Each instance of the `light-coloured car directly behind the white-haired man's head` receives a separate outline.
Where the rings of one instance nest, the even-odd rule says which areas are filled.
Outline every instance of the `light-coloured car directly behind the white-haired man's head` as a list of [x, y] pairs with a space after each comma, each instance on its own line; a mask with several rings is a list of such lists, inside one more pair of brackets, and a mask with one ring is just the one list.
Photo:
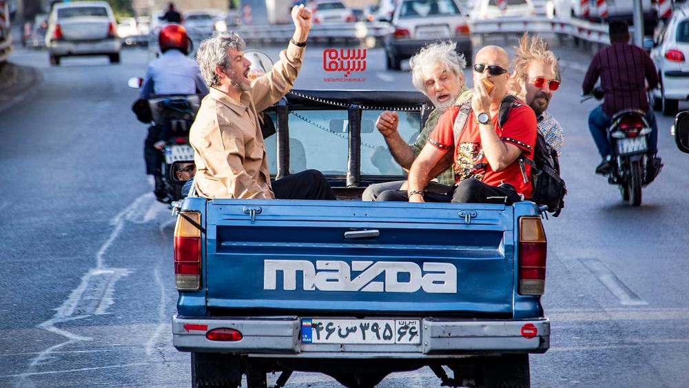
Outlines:
[[401, 0], [392, 17], [392, 32], [384, 39], [388, 69], [400, 70], [402, 59], [411, 58], [424, 45], [451, 39], [457, 52], [471, 63], [473, 48], [469, 23], [456, 0]]

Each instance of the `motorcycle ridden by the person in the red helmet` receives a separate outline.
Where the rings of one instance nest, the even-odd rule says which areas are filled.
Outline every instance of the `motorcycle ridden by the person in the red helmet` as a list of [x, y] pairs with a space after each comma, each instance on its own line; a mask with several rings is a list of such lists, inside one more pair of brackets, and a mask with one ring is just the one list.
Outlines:
[[[143, 79], [137, 77], [127, 81], [127, 85], [135, 89], [141, 88], [142, 83]], [[150, 114], [137, 113], [139, 121], [161, 128], [161, 141], [156, 143], [156, 148], [163, 154], [161, 172], [166, 195], [165, 198], [158, 198], [158, 201], [178, 201], [182, 198], [181, 185], [171, 178], [175, 175], [171, 169], [175, 162], [194, 163], [194, 149], [189, 145], [189, 128], [198, 112], [200, 99], [196, 94], [180, 94], [139, 101], [145, 101], [143, 110], [150, 110]]]

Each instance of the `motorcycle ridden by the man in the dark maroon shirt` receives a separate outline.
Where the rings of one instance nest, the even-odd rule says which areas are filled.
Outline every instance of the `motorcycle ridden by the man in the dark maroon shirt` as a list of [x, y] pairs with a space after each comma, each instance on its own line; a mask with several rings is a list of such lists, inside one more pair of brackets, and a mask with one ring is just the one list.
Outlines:
[[[588, 99], [603, 99], [604, 92], [595, 88], [592, 94], [585, 95], [582, 103]], [[608, 183], [618, 185], [622, 201], [632, 206], [641, 205], [641, 189], [648, 185], [660, 172], [660, 167], [648, 172], [648, 141], [651, 127], [646, 119], [646, 112], [627, 109], [615, 113], [608, 125], [608, 143], [612, 152]], [[658, 162], [659, 163], [659, 162]], [[653, 174], [653, 176], [649, 176]]]

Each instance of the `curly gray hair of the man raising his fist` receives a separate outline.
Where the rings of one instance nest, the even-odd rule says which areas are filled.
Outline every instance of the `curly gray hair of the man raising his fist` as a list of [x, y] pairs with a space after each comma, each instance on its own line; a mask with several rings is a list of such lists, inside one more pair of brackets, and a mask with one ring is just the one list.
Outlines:
[[236, 32], [223, 32], [204, 39], [198, 46], [196, 61], [206, 84], [208, 86], [220, 85], [220, 78], [215, 72], [216, 66], [228, 65], [227, 50], [234, 48], [234, 50], [243, 51], [245, 47], [244, 39]]

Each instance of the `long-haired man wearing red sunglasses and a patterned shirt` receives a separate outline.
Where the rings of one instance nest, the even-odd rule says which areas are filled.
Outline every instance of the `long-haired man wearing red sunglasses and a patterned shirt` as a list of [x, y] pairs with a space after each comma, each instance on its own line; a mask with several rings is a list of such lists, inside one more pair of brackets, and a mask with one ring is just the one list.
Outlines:
[[538, 131], [557, 154], [562, 149], [564, 132], [557, 120], [546, 110], [559, 88], [561, 77], [555, 53], [541, 37], [520, 39], [512, 59], [514, 69], [513, 93], [524, 99], [533, 109], [538, 122]]

